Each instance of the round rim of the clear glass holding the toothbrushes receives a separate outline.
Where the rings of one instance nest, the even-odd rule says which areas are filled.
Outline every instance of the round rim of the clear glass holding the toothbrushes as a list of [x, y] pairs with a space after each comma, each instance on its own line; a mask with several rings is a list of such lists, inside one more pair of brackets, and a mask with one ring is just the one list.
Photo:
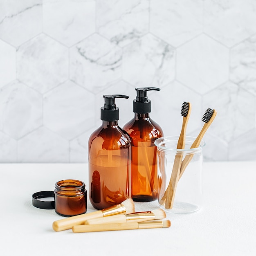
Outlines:
[[[160, 138], [158, 138], [158, 139], [156, 139], [154, 141], [154, 144], [155, 144], [155, 146], [157, 146], [157, 148], [159, 148], [161, 150], [164, 150], [164, 151], [187, 152], [187, 153], [200, 151], [205, 146], [204, 140], [200, 141], [200, 144], [199, 144], [199, 146], [197, 148], [184, 148], [184, 149], [180, 149], [180, 148], [166, 148], [166, 147], [162, 146], [162, 144], [164, 144], [166, 142], [171, 142], [171, 141], [177, 141], [178, 142], [179, 137], [180, 136], [177, 136], [177, 135], [170, 135], [170, 136], [160, 137]], [[186, 136], [186, 140], [185, 141], [190, 141], [191, 144], [193, 144], [195, 139], [196, 139], [196, 137]]]

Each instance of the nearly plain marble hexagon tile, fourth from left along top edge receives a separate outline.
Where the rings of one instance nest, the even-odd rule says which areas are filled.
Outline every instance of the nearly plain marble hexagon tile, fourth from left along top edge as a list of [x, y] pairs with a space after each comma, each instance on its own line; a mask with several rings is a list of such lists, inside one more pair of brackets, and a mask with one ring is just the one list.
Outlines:
[[203, 0], [151, 0], [150, 32], [175, 47], [202, 33]]

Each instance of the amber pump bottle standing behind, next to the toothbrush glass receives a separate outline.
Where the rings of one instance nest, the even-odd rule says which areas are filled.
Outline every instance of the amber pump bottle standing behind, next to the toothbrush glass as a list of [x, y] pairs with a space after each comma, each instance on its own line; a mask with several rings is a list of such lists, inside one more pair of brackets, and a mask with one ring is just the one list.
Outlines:
[[131, 193], [137, 202], [157, 199], [157, 148], [154, 141], [163, 136], [162, 128], [150, 117], [151, 101], [147, 91], [159, 88], [136, 88], [137, 97], [133, 100], [135, 116], [125, 126], [132, 140]]

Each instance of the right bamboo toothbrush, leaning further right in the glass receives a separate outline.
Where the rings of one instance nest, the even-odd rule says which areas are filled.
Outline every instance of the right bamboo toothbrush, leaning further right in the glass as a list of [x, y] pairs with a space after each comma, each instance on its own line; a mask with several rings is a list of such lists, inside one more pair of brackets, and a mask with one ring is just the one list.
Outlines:
[[[190, 148], [198, 148], [200, 145], [200, 142], [204, 136], [204, 133], [207, 131], [211, 123], [213, 122], [214, 118], [217, 115], [217, 111], [215, 109], [207, 108], [207, 110], [204, 112], [204, 115], [202, 117], [202, 121], [205, 123], [202, 130], [200, 131], [198, 137], [195, 139], [193, 144]], [[184, 173], [186, 167], [188, 166], [189, 162], [193, 158], [193, 155], [187, 155], [184, 160], [182, 161], [181, 167], [180, 167], [180, 178], [182, 174]]]

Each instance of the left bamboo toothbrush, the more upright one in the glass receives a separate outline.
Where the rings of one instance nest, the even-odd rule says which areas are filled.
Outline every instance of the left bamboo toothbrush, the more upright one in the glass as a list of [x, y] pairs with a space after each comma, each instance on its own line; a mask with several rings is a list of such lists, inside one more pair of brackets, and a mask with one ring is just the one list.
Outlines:
[[[180, 132], [180, 137], [177, 143], [177, 149], [183, 149], [185, 147], [185, 139], [186, 139], [186, 126], [189, 121], [189, 116], [191, 112], [191, 104], [189, 102], [183, 102], [181, 108], [181, 115], [183, 117], [182, 121], [182, 129]], [[175, 155], [174, 163], [173, 163], [173, 171], [171, 173], [171, 179], [168, 184], [166, 191], [164, 192], [164, 196], [159, 201], [159, 204], [164, 204], [166, 209], [173, 208], [174, 196], [176, 192], [177, 183], [180, 177], [180, 166], [182, 163], [182, 155], [178, 153]]]

